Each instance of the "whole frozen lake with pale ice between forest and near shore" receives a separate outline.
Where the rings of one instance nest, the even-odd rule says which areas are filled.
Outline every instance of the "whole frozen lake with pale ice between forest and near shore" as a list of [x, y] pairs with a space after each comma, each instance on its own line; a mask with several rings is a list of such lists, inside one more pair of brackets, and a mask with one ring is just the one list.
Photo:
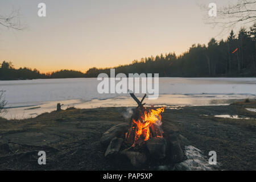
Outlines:
[[[135, 106], [129, 94], [100, 94], [97, 78], [0, 81], [6, 118], [35, 117], [56, 109], [57, 102], [78, 108]], [[143, 94], [137, 94], [142, 97]], [[255, 98], [256, 78], [159, 78], [159, 98], [146, 104], [184, 106], [230, 104]]]

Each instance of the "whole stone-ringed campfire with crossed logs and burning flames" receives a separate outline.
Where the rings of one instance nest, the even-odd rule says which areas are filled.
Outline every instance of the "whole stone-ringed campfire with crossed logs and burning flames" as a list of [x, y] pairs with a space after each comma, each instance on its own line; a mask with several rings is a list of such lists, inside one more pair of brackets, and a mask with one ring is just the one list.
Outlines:
[[186, 158], [183, 149], [188, 140], [179, 134], [172, 125], [162, 126], [164, 107], [144, 107], [133, 93], [131, 97], [138, 106], [133, 109], [129, 123], [113, 126], [101, 137], [106, 148], [105, 157], [127, 162], [135, 168], [146, 166], [174, 166]]

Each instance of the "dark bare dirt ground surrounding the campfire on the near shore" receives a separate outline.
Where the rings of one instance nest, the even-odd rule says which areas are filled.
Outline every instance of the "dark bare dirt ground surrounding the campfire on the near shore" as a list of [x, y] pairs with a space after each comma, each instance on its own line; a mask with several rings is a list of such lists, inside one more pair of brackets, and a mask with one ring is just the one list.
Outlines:
[[[191, 144], [208, 156], [216, 151], [223, 170], [256, 170], [256, 102], [229, 106], [191, 106], [165, 109], [163, 123], [170, 123]], [[124, 117], [127, 107], [67, 109], [23, 120], [0, 119], [0, 169], [2, 170], [127, 170], [121, 160], [104, 158], [102, 133]], [[227, 119], [216, 114], [250, 119]], [[46, 151], [46, 165], [38, 152]], [[142, 168], [150, 169], [150, 168]]]

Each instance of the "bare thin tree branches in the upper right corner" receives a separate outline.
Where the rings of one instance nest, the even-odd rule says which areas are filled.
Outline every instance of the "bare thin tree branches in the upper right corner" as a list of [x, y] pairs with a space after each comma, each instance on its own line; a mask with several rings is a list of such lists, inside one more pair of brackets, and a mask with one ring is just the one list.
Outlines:
[[[200, 5], [202, 9], [209, 10], [208, 6]], [[236, 4], [217, 6], [217, 16], [205, 16], [205, 23], [220, 26], [223, 29], [233, 28], [236, 24], [256, 22], [256, 0], [238, 0]]]

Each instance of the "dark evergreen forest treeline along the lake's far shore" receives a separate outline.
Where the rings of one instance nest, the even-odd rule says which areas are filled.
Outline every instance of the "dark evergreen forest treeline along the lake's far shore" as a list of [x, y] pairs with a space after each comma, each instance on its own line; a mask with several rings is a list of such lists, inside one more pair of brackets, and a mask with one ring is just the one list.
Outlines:
[[[241, 28], [237, 35], [230, 32], [226, 40], [212, 38], [208, 45], [193, 44], [187, 52], [145, 57], [141, 61], [115, 67], [115, 74], [159, 73], [160, 77], [254, 77], [256, 76], [256, 24], [249, 30]], [[15, 69], [10, 62], [3, 61], [1, 80], [35, 78], [97, 77], [110, 74], [110, 68], [90, 68], [86, 73], [61, 70], [40, 73], [30, 68]]]

